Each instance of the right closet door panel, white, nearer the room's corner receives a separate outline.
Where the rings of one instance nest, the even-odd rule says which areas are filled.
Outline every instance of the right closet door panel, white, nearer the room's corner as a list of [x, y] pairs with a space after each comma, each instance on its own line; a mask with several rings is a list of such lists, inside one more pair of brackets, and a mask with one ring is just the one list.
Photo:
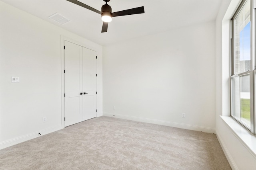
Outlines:
[[83, 48], [83, 118], [91, 119], [96, 113], [96, 87], [97, 87], [96, 52]]

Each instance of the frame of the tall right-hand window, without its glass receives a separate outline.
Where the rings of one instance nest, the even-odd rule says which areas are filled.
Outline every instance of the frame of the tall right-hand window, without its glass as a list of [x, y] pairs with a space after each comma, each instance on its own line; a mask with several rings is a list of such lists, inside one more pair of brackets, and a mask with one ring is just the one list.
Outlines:
[[[234, 19], [238, 16], [238, 14], [241, 12], [242, 8], [244, 7], [244, 4], [246, 2], [250, 2], [250, 70], [240, 72], [235, 74], [235, 47], [234, 47], [234, 39], [235, 39], [235, 27], [234, 27]], [[248, 131], [250, 131], [252, 134], [256, 135], [256, 113], [255, 113], [255, 106], [256, 106], [256, 60], [255, 60], [255, 53], [256, 53], [256, 47], [255, 47], [255, 8], [256, 3], [254, 3], [254, 0], [241, 0], [240, 4], [238, 5], [238, 8], [235, 10], [234, 15], [232, 16], [230, 20], [230, 117], [232, 117], [234, 120], [236, 120], [238, 123], [240, 123], [242, 126], [244, 126]], [[245, 123], [238, 120], [233, 113], [233, 95], [232, 94], [232, 78], [234, 77], [241, 77], [249, 75], [250, 76], [250, 127], [248, 127]], [[241, 114], [241, 113], [240, 113]]]

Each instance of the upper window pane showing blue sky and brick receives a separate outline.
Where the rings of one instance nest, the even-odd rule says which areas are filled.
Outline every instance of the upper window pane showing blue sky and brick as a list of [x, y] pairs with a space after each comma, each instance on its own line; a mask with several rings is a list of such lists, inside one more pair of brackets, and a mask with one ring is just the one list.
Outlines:
[[250, 70], [250, 1], [234, 19], [235, 74]]

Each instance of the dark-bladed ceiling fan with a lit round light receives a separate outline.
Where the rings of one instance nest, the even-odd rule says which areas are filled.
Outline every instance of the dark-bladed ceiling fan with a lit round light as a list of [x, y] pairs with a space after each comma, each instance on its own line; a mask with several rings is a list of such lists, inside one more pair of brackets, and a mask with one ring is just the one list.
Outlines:
[[138, 8], [132, 8], [132, 9], [129, 9], [129, 10], [112, 12], [111, 6], [109, 6], [107, 4], [107, 2], [109, 2], [110, 0], [103, 0], [103, 1], [106, 2], [106, 4], [104, 4], [101, 7], [101, 11], [96, 10], [96, 9], [86, 5], [86, 4], [83, 4], [82, 2], [80, 2], [78, 0], [67, 0], [67, 1], [72, 2], [72, 3], [76, 4], [76, 5], [82, 6], [82, 7], [86, 8], [86, 9], [88, 9], [88, 10], [91, 10], [93, 12], [96, 12], [96, 13], [100, 14], [101, 15], [101, 19], [103, 21], [102, 30], [101, 30], [102, 33], [108, 31], [108, 23], [110, 21], [112, 21], [112, 17], [127, 16], [127, 15], [145, 13], [144, 12], [144, 6], [141, 6], [141, 7], [138, 7]]

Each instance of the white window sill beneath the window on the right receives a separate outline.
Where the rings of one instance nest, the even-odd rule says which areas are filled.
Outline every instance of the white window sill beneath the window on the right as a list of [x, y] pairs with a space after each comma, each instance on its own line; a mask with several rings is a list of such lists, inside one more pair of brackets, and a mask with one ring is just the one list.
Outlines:
[[226, 123], [230, 131], [237, 137], [237, 139], [248, 149], [248, 151], [256, 158], [256, 136], [252, 135], [242, 125], [236, 122], [230, 116], [220, 116]]

